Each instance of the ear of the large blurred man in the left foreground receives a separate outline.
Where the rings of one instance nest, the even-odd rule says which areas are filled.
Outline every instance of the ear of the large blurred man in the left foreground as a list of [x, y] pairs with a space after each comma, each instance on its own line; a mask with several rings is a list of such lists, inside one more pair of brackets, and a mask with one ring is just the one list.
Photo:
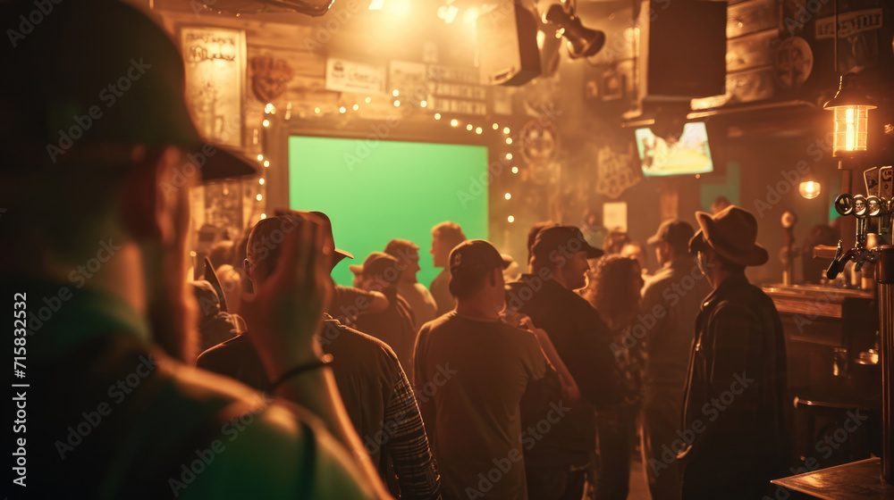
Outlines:
[[119, 212], [124, 227], [137, 239], [173, 241], [176, 228], [173, 218], [165, 213], [174, 212], [178, 196], [185, 196], [181, 189], [189, 188], [173, 183], [180, 151], [172, 146], [148, 153], [135, 149], [134, 154], [143, 154], [143, 158], [122, 185]]

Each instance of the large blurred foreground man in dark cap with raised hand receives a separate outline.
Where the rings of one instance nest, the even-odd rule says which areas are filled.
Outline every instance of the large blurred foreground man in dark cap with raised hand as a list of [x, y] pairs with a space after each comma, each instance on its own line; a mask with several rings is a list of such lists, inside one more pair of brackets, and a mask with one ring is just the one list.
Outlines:
[[199, 137], [173, 41], [123, 2], [5, 2], [0, 19], [36, 23], [0, 48], [16, 75], [0, 83], [0, 288], [27, 412], [10, 496], [387, 497], [313, 340], [320, 224], [285, 237], [300, 272], [277, 268], [240, 309], [279, 397], [184, 364], [188, 190], [254, 169]]

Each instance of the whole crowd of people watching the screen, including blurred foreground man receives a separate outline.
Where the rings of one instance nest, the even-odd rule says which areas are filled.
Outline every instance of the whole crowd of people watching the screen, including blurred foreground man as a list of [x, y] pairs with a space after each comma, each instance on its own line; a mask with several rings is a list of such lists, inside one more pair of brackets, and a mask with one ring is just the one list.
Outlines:
[[[340, 286], [345, 221], [284, 211], [190, 282], [189, 188], [253, 170], [198, 136], [155, 22], [106, 0], [55, 9], [4, 47], [34, 70], [4, 79], [0, 125], [28, 496], [625, 498], [637, 446], [656, 499], [761, 498], [786, 475], [785, 344], [744, 273], [767, 261], [751, 213], [663, 222], [651, 276], [621, 231], [601, 249], [539, 223], [510, 282], [512, 259], [445, 221], [426, 288], [427, 242], [393, 239]], [[97, 116], [133, 54], [151, 70]], [[92, 126], [48, 156], [72, 115]]]

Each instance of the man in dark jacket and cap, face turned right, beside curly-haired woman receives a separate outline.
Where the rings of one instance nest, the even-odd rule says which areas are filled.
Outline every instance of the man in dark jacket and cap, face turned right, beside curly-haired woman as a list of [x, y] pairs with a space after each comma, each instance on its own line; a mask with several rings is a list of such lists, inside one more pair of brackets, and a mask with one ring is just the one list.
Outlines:
[[[526, 314], [546, 330], [561, 361], [577, 382], [580, 404], [569, 404], [568, 414], [549, 433], [526, 448], [527, 486], [532, 498], [558, 500], [583, 495], [586, 467], [595, 453], [595, 407], [620, 403], [620, 372], [611, 354], [611, 332], [598, 312], [574, 290], [586, 285], [587, 259], [603, 251], [590, 246], [580, 229], [554, 225], [536, 233], [529, 262], [532, 273], [522, 274], [506, 287], [507, 305]], [[566, 408], [561, 395], [537, 387], [523, 404], [526, 426], [548, 418], [553, 405]], [[545, 403], [544, 403], [545, 402]]]

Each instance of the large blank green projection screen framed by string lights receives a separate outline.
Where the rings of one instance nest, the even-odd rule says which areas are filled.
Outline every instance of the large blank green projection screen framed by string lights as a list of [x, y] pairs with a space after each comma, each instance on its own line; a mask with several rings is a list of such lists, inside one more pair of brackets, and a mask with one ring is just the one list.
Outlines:
[[353, 279], [349, 264], [400, 237], [419, 246], [427, 287], [440, 271], [428, 253], [432, 226], [454, 221], [466, 237], [487, 238], [486, 178], [485, 146], [289, 137], [290, 208], [325, 212], [335, 246], [354, 254], [333, 271], [340, 285]]

